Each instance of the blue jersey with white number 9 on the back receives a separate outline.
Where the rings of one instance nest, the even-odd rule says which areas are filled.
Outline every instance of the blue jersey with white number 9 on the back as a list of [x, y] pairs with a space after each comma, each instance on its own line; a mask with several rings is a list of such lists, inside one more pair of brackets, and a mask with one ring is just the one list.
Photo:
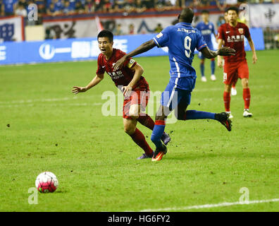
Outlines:
[[194, 49], [200, 51], [206, 47], [199, 30], [193, 28], [190, 23], [177, 23], [163, 29], [154, 37], [154, 41], [157, 47], [168, 47], [171, 78], [197, 77], [192, 67]]

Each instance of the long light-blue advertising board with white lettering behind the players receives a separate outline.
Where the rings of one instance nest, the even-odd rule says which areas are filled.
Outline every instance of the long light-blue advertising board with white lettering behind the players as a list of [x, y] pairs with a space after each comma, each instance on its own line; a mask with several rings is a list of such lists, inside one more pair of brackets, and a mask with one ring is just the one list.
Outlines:
[[[261, 28], [250, 29], [257, 50], [264, 49]], [[113, 47], [130, 52], [142, 42], [151, 40], [150, 35], [124, 35], [114, 37]], [[246, 43], [246, 50], [249, 44]], [[58, 61], [82, 61], [97, 59], [100, 51], [97, 38], [45, 40], [44, 42], [3, 42], [0, 44], [1, 64], [32, 64]], [[166, 56], [168, 49], [153, 48], [140, 57]]]

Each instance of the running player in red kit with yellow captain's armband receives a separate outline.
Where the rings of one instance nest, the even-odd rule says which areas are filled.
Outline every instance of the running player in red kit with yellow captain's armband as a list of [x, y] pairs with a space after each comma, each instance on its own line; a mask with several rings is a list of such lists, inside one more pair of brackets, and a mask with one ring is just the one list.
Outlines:
[[[138, 160], [153, 157], [153, 150], [145, 140], [142, 132], [137, 129], [137, 121], [147, 128], [154, 129], [154, 121], [148, 114], [141, 114], [147, 106], [149, 100], [149, 84], [142, 76], [144, 70], [140, 64], [129, 58], [125, 61], [124, 67], [114, 70], [113, 65], [125, 55], [120, 49], [113, 48], [113, 33], [109, 30], [102, 30], [97, 37], [101, 54], [98, 57], [97, 75], [86, 87], [74, 86], [72, 92], [82, 93], [97, 85], [104, 78], [104, 73], [108, 73], [115, 85], [123, 91], [123, 124], [124, 131], [132, 138], [137, 145], [144, 150], [144, 154]], [[167, 133], [161, 137], [161, 141], [167, 144], [171, 138]]]

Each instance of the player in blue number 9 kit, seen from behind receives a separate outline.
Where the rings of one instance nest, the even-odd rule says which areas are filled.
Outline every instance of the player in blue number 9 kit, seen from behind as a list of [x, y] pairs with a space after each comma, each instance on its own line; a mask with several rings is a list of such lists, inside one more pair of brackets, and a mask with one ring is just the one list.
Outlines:
[[162, 30], [153, 40], [144, 42], [137, 49], [126, 54], [116, 61], [114, 69], [118, 70], [129, 58], [154, 47], [168, 47], [168, 57], [171, 64], [170, 81], [161, 95], [161, 105], [156, 112], [155, 126], [152, 131], [151, 141], [156, 145], [152, 161], [159, 161], [166, 154], [166, 145], [161, 143], [160, 138], [165, 130], [166, 118], [175, 109], [175, 117], [178, 120], [188, 119], [215, 119], [220, 121], [228, 131], [231, 131], [229, 114], [225, 112], [211, 113], [186, 110], [190, 105], [191, 92], [196, 82], [196, 71], [192, 67], [194, 49], [201, 51], [206, 58], [235, 55], [235, 49], [221, 47], [212, 51], [206, 46], [201, 32], [193, 28], [191, 23], [194, 13], [191, 8], [184, 8], [178, 16], [178, 23]]

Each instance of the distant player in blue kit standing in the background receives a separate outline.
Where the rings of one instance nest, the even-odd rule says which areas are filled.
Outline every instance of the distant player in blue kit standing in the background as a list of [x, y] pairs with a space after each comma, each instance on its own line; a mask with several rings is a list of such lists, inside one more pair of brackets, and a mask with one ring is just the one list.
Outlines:
[[[204, 37], [204, 41], [207, 44], [207, 47], [209, 49], [213, 49], [213, 44], [211, 40], [211, 34], [213, 34], [216, 37], [215, 30], [214, 30], [214, 25], [213, 23], [209, 22], [209, 11], [204, 10], [202, 11], [202, 22], [199, 22], [196, 26], [196, 28], [202, 32], [202, 36]], [[202, 74], [202, 81], [206, 82], [206, 76], [204, 76], [204, 60], [206, 57], [202, 54], [202, 52], [199, 52], [199, 59], [201, 59], [201, 64], [199, 64], [199, 67], [201, 69], [201, 74]], [[211, 58], [211, 80], [216, 81], [216, 76], [215, 76], [215, 59]]]

